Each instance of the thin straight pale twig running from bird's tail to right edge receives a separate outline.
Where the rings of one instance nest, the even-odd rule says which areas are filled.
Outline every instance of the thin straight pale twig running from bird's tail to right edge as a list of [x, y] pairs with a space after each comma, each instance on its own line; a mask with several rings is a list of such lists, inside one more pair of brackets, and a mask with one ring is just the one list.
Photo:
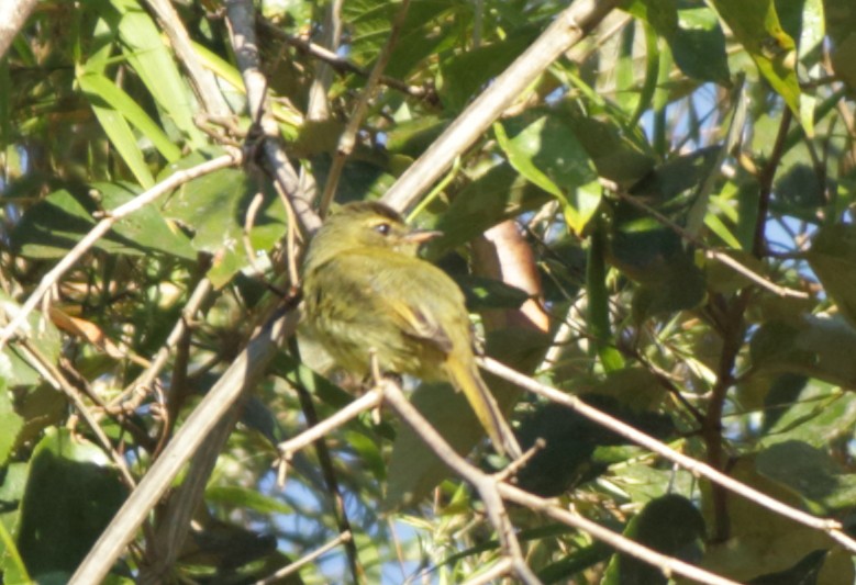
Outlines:
[[856, 540], [845, 535], [842, 530], [841, 522], [836, 520], [830, 518], [818, 518], [816, 516], [807, 514], [802, 510], [788, 506], [787, 504], [782, 504], [781, 502], [761, 492], [758, 492], [757, 490], [754, 490], [748, 485], [741, 483], [733, 477], [725, 475], [724, 473], [721, 473], [720, 471], [714, 470], [701, 461], [687, 457], [683, 453], [679, 453], [657, 439], [645, 435], [634, 427], [622, 423], [621, 420], [613, 418], [592, 406], [589, 406], [577, 396], [568, 395], [559, 390], [536, 382], [535, 380], [523, 375], [520, 372], [516, 372], [508, 365], [504, 365], [496, 360], [490, 358], [480, 358], [479, 364], [494, 375], [513, 382], [521, 387], [537, 394], [538, 396], [543, 396], [552, 402], [567, 406], [574, 412], [585, 416], [589, 420], [592, 420], [598, 425], [601, 425], [604, 428], [608, 428], [609, 430], [631, 440], [632, 442], [649, 449], [655, 453], [664, 457], [665, 459], [677, 463], [694, 475], [705, 477], [707, 480], [722, 485], [731, 492], [743, 496], [746, 499], [758, 504], [759, 506], [790, 518], [791, 520], [794, 520], [801, 525], [826, 532], [844, 548], [852, 552], [856, 552]]

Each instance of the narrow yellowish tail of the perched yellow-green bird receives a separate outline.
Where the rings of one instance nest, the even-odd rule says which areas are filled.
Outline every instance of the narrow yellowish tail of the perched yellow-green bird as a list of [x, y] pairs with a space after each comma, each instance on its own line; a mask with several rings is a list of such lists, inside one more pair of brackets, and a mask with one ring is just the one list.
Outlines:
[[481, 379], [476, 364], [470, 362], [467, 365], [460, 360], [449, 358], [446, 361], [446, 370], [452, 384], [464, 393], [479, 423], [488, 431], [488, 437], [493, 442], [494, 449], [500, 454], [507, 454], [512, 459], [521, 457], [522, 451], [518, 439], [505, 421], [493, 394]]

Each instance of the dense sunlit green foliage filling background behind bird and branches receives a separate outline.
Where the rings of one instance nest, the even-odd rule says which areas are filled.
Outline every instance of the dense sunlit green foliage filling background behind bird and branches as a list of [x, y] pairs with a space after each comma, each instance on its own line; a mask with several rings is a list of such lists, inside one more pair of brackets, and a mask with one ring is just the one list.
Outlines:
[[[252, 126], [224, 2], [176, 2], [170, 25], [156, 3], [44, 0], [0, 60], [0, 323], [105, 212]], [[262, 2], [270, 111], [304, 184], [321, 193], [336, 176], [340, 136], [374, 91], [335, 201], [381, 196], [445, 128], [468, 123], [457, 116], [567, 4], [347, 1], [338, 56], [320, 58], [308, 41], [330, 32], [326, 3]], [[178, 25], [230, 116], [203, 114], [166, 34]], [[490, 356], [844, 521], [856, 506], [854, 31], [849, 0], [626, 0], [462, 145], [412, 214], [444, 233], [425, 254], [465, 288]], [[318, 87], [329, 115], [310, 109]], [[4, 582], [68, 578], [129, 491], [116, 459], [144, 476], [278, 303], [267, 283], [294, 284], [286, 234], [300, 234], [254, 155], [116, 222], [2, 347]], [[505, 220], [526, 254], [481, 238]], [[536, 278], [514, 280], [512, 266]], [[212, 290], [184, 313], [203, 281]], [[457, 583], [500, 558], [475, 492], [391, 413], [299, 451], [277, 484], [278, 442], [347, 404], [353, 382], [311, 340], [287, 345], [243, 403], [168, 580], [269, 576], [335, 538], [345, 516], [355, 560], [335, 548], [292, 582]], [[851, 553], [827, 535], [490, 384], [523, 446], [547, 441], [521, 487], [734, 580], [854, 582]], [[413, 402], [459, 449], [476, 446], [471, 461], [503, 463], [448, 387], [421, 385]], [[510, 514], [545, 583], [667, 582], [586, 532]], [[162, 522], [151, 516], [111, 582], [156, 564]]]

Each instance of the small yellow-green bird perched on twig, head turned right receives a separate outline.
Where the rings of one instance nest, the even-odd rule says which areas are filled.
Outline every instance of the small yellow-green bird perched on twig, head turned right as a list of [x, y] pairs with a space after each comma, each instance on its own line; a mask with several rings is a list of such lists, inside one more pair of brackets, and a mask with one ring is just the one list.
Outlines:
[[464, 392], [500, 453], [520, 447], [476, 367], [464, 294], [416, 257], [437, 235], [409, 227], [377, 202], [343, 205], [310, 243], [303, 265], [305, 318], [338, 365], [447, 381]]

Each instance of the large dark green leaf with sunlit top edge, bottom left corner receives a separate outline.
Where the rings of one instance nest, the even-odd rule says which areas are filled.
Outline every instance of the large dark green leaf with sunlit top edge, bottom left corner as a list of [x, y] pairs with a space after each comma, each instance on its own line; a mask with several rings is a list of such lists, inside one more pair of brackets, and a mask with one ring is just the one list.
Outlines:
[[97, 447], [51, 429], [30, 461], [18, 548], [34, 578], [70, 574], [126, 496]]

